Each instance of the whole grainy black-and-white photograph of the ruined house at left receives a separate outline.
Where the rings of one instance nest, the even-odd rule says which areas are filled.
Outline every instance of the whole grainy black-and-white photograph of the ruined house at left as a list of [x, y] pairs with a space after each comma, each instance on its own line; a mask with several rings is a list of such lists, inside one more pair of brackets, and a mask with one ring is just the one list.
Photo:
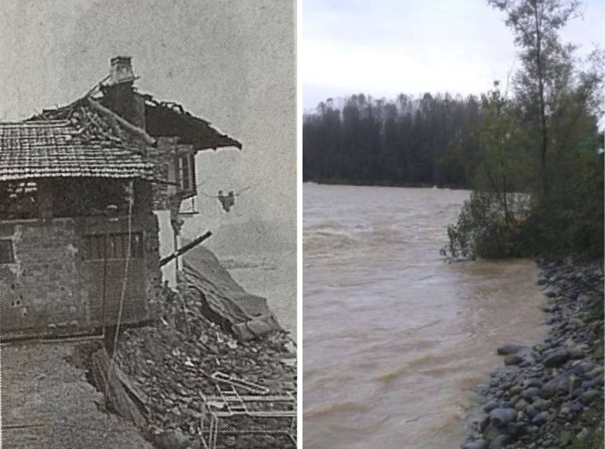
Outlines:
[[296, 447], [295, 14], [2, 0], [2, 448]]

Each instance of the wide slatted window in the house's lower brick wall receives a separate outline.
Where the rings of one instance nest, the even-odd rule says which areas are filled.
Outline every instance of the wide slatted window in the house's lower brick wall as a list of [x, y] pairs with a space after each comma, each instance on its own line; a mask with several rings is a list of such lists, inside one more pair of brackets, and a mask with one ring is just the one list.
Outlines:
[[[130, 257], [143, 257], [142, 233], [132, 233], [130, 248]], [[85, 260], [103, 260], [105, 257], [107, 259], [126, 259], [126, 256], [128, 256], [128, 233], [84, 236], [83, 249]]]

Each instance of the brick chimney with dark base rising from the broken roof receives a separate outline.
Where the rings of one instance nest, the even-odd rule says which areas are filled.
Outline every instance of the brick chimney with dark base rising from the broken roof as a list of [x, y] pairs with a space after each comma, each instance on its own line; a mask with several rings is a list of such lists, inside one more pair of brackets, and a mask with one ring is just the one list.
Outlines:
[[130, 56], [116, 56], [110, 60], [110, 79], [102, 87], [102, 103], [120, 117], [145, 129], [145, 100], [136, 92]]

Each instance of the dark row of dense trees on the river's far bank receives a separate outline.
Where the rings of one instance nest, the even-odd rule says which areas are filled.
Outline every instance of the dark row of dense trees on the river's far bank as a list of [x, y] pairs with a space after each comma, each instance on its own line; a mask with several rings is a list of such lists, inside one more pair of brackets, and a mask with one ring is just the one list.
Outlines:
[[479, 117], [480, 99], [474, 96], [328, 99], [304, 115], [303, 179], [469, 187], [480, 158], [473, 138]]

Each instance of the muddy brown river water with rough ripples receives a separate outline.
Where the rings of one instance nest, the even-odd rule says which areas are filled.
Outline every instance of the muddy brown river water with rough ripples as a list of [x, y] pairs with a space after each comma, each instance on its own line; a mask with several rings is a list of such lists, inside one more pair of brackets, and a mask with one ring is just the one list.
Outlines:
[[439, 256], [468, 195], [304, 185], [305, 449], [457, 447], [495, 347], [543, 335], [533, 262]]

